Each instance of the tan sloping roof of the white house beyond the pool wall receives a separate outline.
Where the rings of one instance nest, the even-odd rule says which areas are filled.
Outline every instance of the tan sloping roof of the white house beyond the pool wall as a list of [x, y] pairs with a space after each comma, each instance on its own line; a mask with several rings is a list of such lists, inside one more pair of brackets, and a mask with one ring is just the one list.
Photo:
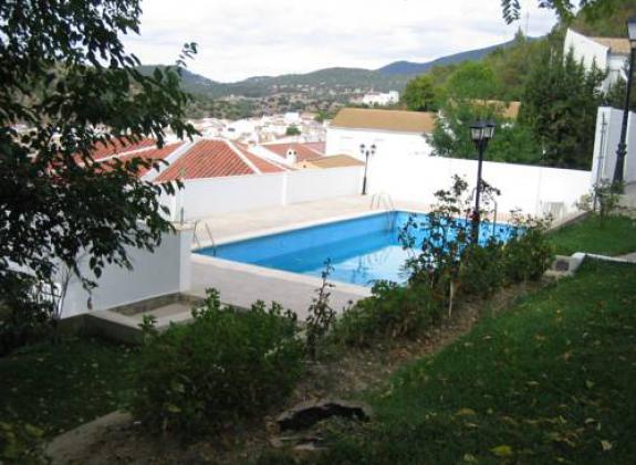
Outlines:
[[343, 108], [335, 116], [331, 126], [334, 128], [430, 134], [435, 129], [435, 118], [434, 113], [425, 112]]

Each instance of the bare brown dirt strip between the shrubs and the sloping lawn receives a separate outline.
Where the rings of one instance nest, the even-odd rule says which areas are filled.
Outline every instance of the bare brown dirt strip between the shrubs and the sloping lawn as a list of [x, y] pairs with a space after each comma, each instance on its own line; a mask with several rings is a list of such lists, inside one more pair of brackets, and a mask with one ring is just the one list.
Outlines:
[[[205, 464], [244, 461], [275, 447], [279, 433], [275, 418], [292, 405], [324, 398], [351, 398], [361, 391], [382, 388], [390, 374], [405, 363], [431, 355], [468, 332], [482, 316], [491, 316], [519, 297], [545, 283], [517, 285], [500, 290], [488, 300], [465, 302], [442, 325], [413, 340], [396, 340], [364, 350], [343, 350], [331, 360], [307, 366], [296, 390], [282, 409], [191, 445], [170, 437], [153, 437], [143, 424], [127, 415], [83, 425], [52, 443], [49, 453], [54, 464]], [[110, 416], [110, 415], [107, 415]], [[95, 422], [93, 422], [95, 423]], [[62, 441], [60, 441], [62, 440]]]

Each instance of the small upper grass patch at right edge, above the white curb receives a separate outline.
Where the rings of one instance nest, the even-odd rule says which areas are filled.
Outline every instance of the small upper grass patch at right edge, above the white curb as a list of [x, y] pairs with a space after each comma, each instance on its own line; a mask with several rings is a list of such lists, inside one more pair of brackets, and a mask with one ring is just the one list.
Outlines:
[[603, 226], [598, 216], [591, 215], [551, 234], [560, 255], [588, 252], [601, 255], [622, 255], [636, 252], [636, 220], [608, 216]]

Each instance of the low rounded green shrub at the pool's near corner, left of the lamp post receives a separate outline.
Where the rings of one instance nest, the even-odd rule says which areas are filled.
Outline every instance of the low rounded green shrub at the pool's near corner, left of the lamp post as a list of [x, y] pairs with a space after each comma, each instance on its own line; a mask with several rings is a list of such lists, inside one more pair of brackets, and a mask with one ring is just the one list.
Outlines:
[[337, 341], [352, 346], [367, 346], [388, 337], [413, 337], [435, 323], [441, 314], [439, 299], [430, 287], [403, 287], [380, 281], [372, 296], [358, 300], [336, 320]]

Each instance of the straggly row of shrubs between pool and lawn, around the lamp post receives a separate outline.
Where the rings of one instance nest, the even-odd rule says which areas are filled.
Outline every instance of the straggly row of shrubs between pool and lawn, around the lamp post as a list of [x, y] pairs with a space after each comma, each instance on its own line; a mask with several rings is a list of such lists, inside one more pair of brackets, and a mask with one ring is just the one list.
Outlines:
[[[502, 286], [543, 275], [553, 255], [549, 221], [513, 212], [511, 224], [501, 231], [507, 242], [491, 235], [484, 221], [482, 240], [476, 243], [467, 190], [467, 182], [455, 177], [451, 189], [436, 193], [438, 202], [425, 220], [411, 216], [400, 233], [403, 246], [417, 251], [405, 265], [407, 285], [376, 283], [372, 297], [336, 320], [337, 341], [368, 346], [383, 338], [414, 337], [438, 323], [446, 309], [450, 316], [457, 300], [488, 297]], [[486, 183], [483, 191], [490, 197], [498, 192]], [[489, 195], [482, 204], [484, 220]]]

